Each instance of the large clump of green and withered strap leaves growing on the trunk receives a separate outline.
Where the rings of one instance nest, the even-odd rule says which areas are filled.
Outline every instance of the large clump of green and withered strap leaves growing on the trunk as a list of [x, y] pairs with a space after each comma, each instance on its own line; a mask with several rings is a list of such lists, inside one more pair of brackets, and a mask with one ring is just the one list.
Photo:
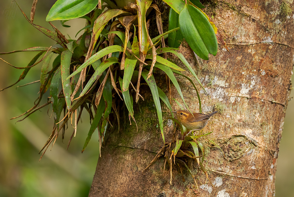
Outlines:
[[[153, 75], [153, 69], [161, 70], [171, 79], [187, 109], [189, 107], [184, 100], [174, 74], [183, 75], [195, 89], [196, 86], [192, 79], [181, 73], [181, 71], [184, 71], [183, 68], [166, 58], [166, 53], [175, 54], [202, 88], [203, 86], [184, 56], [176, 51], [177, 48], [165, 47], [164, 39], [170, 36], [168, 38], [170, 47], [179, 47], [181, 41], [185, 38], [199, 57], [208, 59], [209, 53], [215, 55], [217, 52], [215, 36], [217, 29], [207, 15], [199, 9], [204, 7], [199, 0], [188, 1], [188, 5], [182, 0], [163, 1], [171, 6], [170, 27], [168, 32], [162, 32], [160, 19], [157, 24], [160, 35], [154, 38], [149, 36], [146, 23], [148, 13], [152, 10], [151, 7], [158, 10], [157, 5], [152, 4], [151, 0], [136, 0], [128, 5], [116, 5], [112, 1], [102, 2], [101, 5], [98, 4], [98, 1], [93, 0], [58, 0], [50, 9], [46, 21], [60, 20], [64, 25], [64, 22], [70, 19], [85, 19], [85, 27], [81, 27], [80, 30], [84, 33], [77, 40], [67, 40], [62, 32], [52, 24], [54, 31], [31, 23], [21, 10], [28, 22], [56, 42], [56, 45], [49, 48], [32, 47], [9, 52], [40, 51], [27, 67], [16, 67], [24, 69], [16, 83], [24, 79], [31, 67], [44, 60], [41, 70], [40, 96], [36, 104], [22, 114], [28, 116], [36, 110], [52, 104], [55, 124], [52, 135], [45, 143], [44, 148], [46, 146], [48, 148], [54, 138], [55, 142], [59, 131], [64, 128], [67, 121], [73, 122], [73, 116], [75, 116], [75, 120], [72, 126], [76, 132], [76, 125], [84, 108], [89, 113], [91, 128], [84, 143], [83, 151], [96, 128], [98, 129], [101, 148], [111, 121], [117, 121], [119, 125], [119, 109], [124, 109], [124, 106], [126, 106], [130, 123], [131, 118], [136, 123], [133, 107], [134, 103], [138, 102], [140, 98], [144, 100], [140, 95], [140, 84], [144, 80], [153, 96], [162, 139], [165, 142], [159, 98], [167, 105], [169, 110], [172, 110], [171, 101], [168, 99], [172, 96], [167, 96], [161, 87], [157, 86], [157, 81], [162, 78], [162, 75]], [[161, 17], [159, 11], [156, 14], [158, 18]], [[41, 61], [35, 63], [43, 53], [45, 55]], [[58, 54], [58, 56], [50, 70], [49, 62], [53, 53]], [[141, 79], [141, 76], [144, 80]], [[59, 87], [60, 82], [61, 89]], [[50, 99], [39, 106], [42, 96], [48, 89], [50, 89]], [[198, 91], [197, 96], [201, 112]], [[62, 112], [66, 115], [60, 121]], [[195, 147], [195, 144], [192, 144], [192, 146]], [[181, 150], [180, 143], [176, 147], [175, 155], [179, 154], [178, 151]], [[195, 150], [194, 153], [186, 152], [185, 154], [192, 157], [197, 155]]]

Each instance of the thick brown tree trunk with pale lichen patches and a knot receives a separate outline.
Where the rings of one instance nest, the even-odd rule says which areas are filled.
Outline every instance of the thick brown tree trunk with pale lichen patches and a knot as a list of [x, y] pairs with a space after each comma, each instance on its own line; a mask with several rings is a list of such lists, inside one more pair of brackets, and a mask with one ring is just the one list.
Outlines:
[[[219, 45], [215, 57], [210, 55], [209, 61], [199, 59], [197, 63], [188, 47], [183, 44], [180, 48], [210, 96], [208, 99], [204, 91], [200, 91], [202, 112], [212, 111], [214, 105], [223, 109], [210, 118], [202, 131], [213, 131], [208, 138], [223, 151], [209, 148], [209, 142], [203, 140], [207, 150], [203, 163], [213, 186], [205, 183], [206, 176], [200, 170], [195, 177], [198, 191], [191, 175], [184, 171], [184, 182], [176, 167], [173, 167], [170, 184], [167, 165], [163, 172], [163, 157], [143, 171], [163, 145], [156, 109], [146, 89], [140, 93], [147, 101], [139, 101], [140, 109], [138, 106], [135, 109], [138, 132], [135, 124], [128, 125], [128, 118], [121, 131], [110, 131], [89, 196], [275, 195], [279, 142], [294, 57], [293, 11], [288, 10], [289, 13], [286, 8], [293, 8], [294, 3], [213, 2], [214, 6], [208, 6], [205, 12], [214, 15], [213, 21], [231, 55]], [[196, 91], [186, 79], [178, 77], [178, 80], [188, 106], [198, 112]], [[165, 86], [164, 81], [158, 86]], [[198, 88], [200, 90], [200, 86]], [[180, 101], [180, 97], [174, 95], [177, 93], [172, 88], [172, 96]], [[174, 109], [179, 109], [172, 104]], [[168, 115], [166, 113], [166, 117]], [[124, 123], [123, 119], [121, 122]], [[164, 122], [164, 134], [166, 141], [171, 141], [173, 126], [167, 126], [168, 123]], [[197, 165], [189, 166], [195, 166], [193, 172], [199, 170]]]

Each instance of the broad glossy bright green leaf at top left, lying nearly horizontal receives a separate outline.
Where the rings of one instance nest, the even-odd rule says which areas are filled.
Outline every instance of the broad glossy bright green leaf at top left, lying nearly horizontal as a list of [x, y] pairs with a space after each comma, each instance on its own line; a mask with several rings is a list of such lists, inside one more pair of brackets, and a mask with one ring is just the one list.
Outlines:
[[46, 21], [76, 19], [88, 14], [97, 4], [97, 0], [57, 0], [46, 16]]

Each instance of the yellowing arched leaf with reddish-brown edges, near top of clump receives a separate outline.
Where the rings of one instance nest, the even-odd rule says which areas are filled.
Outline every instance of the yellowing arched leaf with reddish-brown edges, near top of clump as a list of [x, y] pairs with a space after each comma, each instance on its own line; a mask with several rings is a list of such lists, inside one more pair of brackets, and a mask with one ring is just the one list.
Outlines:
[[110, 21], [115, 16], [118, 16], [123, 13], [128, 13], [123, 10], [118, 10], [118, 9], [109, 9], [103, 12], [94, 22], [93, 26], [93, 36], [94, 36], [94, 45], [96, 41], [98, 40], [100, 33], [102, 32], [103, 28], [105, 25]]

